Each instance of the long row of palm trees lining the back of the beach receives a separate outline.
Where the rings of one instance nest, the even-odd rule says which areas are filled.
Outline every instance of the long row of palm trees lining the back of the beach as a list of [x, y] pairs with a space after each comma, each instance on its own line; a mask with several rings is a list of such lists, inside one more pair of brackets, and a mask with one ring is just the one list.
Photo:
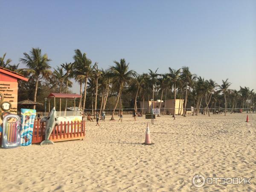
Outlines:
[[[169, 67], [169, 73], [165, 74], [157, 73], [158, 68], [156, 70], [149, 69], [148, 73], [137, 74], [134, 70], [129, 70], [129, 63], [122, 58], [120, 61], [114, 61], [113, 66], [104, 70], [99, 68], [97, 62], [92, 64], [86, 53], [76, 49], [73, 62], [63, 63], [52, 72], [50, 70], [51, 59], [47, 57], [47, 54], [42, 54], [41, 49], [32, 48], [29, 54], [25, 52], [23, 55], [20, 62], [25, 64], [26, 68], [19, 69], [18, 65], [11, 65], [11, 59], [4, 61], [6, 54], [0, 58], [0, 67], [23, 73], [30, 80], [33, 79], [35, 81], [34, 101], [37, 100], [39, 81], [49, 81], [52, 87], [58, 88], [59, 93], [69, 93], [72, 92], [69, 89], [72, 87], [71, 79], [75, 79], [79, 84], [79, 93], [82, 96], [79, 107], [83, 110], [86, 106], [91, 105], [94, 114], [99, 104], [101, 113], [105, 109], [108, 98], [110, 96], [115, 98], [111, 119], [114, 119], [118, 104], [119, 109], [122, 108], [122, 97], [125, 98], [127, 95], [133, 95], [134, 109], [138, 108], [138, 100], [143, 101], [143, 106], [140, 107], [144, 108], [145, 100], [149, 101], [151, 98], [155, 100], [157, 97], [161, 101], [160, 108], [163, 97], [165, 101], [168, 97], [168, 99], [174, 99], [174, 102], [176, 102], [176, 98], [183, 99], [183, 105], [181, 105], [182, 102], [179, 102], [178, 111], [178, 115], [183, 116], [186, 116], [188, 103], [194, 105], [193, 115], [198, 115], [201, 106], [204, 106], [204, 114], [207, 113], [209, 116], [209, 108], [216, 107], [217, 103], [219, 106], [224, 104], [225, 115], [228, 101], [230, 104], [233, 100], [231, 113], [235, 112], [238, 105], [247, 109], [254, 105], [255, 93], [248, 87], [240, 87], [239, 91], [230, 90], [231, 83], [228, 79], [222, 80], [222, 83], [218, 85], [212, 79], [205, 80], [203, 77], [191, 73], [189, 67], [186, 66], [177, 70]], [[86, 103], [87, 94], [90, 94], [91, 104]], [[174, 106], [176, 106], [175, 104]], [[61, 100], [59, 108], [61, 111]], [[181, 110], [182, 108], [183, 110]], [[67, 99], [64, 111], [66, 110]], [[163, 115], [166, 113], [165, 102]], [[175, 119], [175, 113], [173, 117]]]

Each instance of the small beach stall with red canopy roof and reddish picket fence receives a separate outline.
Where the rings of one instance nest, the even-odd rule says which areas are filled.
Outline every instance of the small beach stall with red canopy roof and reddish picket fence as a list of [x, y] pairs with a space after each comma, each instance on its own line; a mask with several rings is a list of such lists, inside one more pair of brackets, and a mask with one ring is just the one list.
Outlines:
[[[57, 111], [57, 119], [59, 125], [55, 125], [49, 140], [53, 142], [67, 140], [83, 140], [85, 137], [85, 121], [82, 117], [81, 108], [76, 108], [76, 99], [81, 101], [81, 96], [78, 94], [66, 93], [50, 93], [48, 96], [49, 111], [50, 103], [56, 103], [56, 99], [73, 99], [74, 111]], [[41, 122], [40, 118], [35, 120], [33, 129], [32, 143], [41, 143], [45, 138], [45, 122]]]

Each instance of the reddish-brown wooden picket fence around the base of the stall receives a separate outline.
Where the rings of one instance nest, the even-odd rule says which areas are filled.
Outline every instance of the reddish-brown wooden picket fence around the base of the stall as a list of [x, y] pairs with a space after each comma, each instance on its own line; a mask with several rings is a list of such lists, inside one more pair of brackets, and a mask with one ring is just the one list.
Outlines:
[[[45, 136], [45, 122], [35, 119], [32, 143], [41, 143]], [[83, 140], [85, 137], [85, 121], [60, 122], [49, 137], [53, 142], [67, 140]]]

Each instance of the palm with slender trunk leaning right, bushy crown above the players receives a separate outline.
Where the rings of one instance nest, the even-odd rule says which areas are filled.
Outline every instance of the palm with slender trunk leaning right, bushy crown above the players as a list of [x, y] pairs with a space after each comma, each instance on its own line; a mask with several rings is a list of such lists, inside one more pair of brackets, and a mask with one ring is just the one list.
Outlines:
[[134, 76], [136, 74], [135, 71], [133, 70], [128, 70], [129, 69], [129, 63], [126, 64], [125, 59], [122, 58], [120, 59], [120, 62], [114, 61], [114, 66], [110, 67], [111, 72], [113, 73], [114, 79], [116, 82], [119, 84], [119, 90], [118, 94], [116, 97], [116, 105], [113, 109], [111, 120], [114, 120], [114, 113], [117, 107], [117, 104], [119, 102], [119, 97], [122, 92], [122, 88], [124, 84], [131, 79], [131, 76]]

